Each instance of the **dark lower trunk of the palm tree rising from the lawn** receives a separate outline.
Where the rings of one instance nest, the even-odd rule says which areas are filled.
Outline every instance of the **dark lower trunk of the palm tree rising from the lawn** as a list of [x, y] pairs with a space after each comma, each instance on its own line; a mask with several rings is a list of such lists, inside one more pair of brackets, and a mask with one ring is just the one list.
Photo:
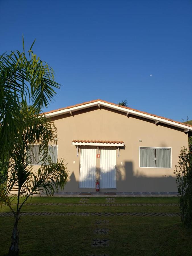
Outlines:
[[15, 218], [15, 223], [14, 223], [14, 228], [13, 228], [13, 233], [11, 236], [11, 246], [9, 248], [9, 256], [15, 256], [18, 255], [19, 253], [19, 234], [18, 234], [18, 220], [19, 218]]

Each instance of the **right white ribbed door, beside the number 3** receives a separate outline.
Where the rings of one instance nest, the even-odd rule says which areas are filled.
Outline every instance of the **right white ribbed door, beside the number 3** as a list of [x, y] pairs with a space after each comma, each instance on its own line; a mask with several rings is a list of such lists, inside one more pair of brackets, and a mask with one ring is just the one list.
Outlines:
[[116, 188], [116, 148], [100, 149], [100, 188]]

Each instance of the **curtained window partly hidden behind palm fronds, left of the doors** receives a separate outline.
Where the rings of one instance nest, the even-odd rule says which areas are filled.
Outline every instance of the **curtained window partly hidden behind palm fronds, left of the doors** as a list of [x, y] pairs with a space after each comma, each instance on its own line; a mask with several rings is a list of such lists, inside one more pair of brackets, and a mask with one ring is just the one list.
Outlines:
[[[49, 158], [52, 162], [57, 162], [57, 146], [49, 146], [48, 147]], [[31, 165], [34, 164], [42, 164], [42, 152], [39, 152], [39, 146], [31, 146], [28, 149], [28, 155], [30, 156]], [[49, 164], [49, 158], [46, 161], [46, 164]]]

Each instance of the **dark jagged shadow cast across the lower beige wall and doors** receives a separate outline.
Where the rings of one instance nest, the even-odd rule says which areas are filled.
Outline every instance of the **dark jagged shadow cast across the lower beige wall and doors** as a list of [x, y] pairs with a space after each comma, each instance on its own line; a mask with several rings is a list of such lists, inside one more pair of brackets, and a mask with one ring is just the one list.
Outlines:
[[[142, 168], [141, 168], [142, 170]], [[158, 169], [164, 172], [164, 169]], [[117, 189], [111, 189], [111, 191], [117, 192], [176, 192], [177, 185], [176, 179], [173, 176], [166, 176], [162, 174], [162, 177], [153, 177], [155, 169], [148, 168], [148, 173], [151, 172], [150, 176], [145, 176], [141, 172], [133, 170], [132, 162], [125, 162], [125, 165], [117, 166], [116, 178], [117, 178]], [[89, 173], [92, 173], [91, 171]], [[107, 173], [108, 179], [111, 179], [111, 184], [115, 181], [114, 170], [110, 170]], [[94, 184], [94, 177], [92, 175], [84, 176], [82, 183]], [[87, 181], [88, 180], [88, 181]], [[108, 184], [110, 184], [108, 183]], [[69, 181], [67, 182], [64, 191], [75, 192], [75, 191], [90, 191], [88, 188], [79, 188], [79, 180], [76, 180], [74, 172], [71, 173]], [[109, 189], [107, 189], [109, 191]]]

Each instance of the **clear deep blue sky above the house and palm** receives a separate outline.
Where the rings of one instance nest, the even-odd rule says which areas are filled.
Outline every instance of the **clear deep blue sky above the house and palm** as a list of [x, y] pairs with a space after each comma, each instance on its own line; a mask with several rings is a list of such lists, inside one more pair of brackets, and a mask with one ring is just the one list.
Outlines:
[[192, 119], [191, 13], [189, 0], [0, 0], [0, 52], [36, 38], [62, 84], [47, 110], [100, 98]]

